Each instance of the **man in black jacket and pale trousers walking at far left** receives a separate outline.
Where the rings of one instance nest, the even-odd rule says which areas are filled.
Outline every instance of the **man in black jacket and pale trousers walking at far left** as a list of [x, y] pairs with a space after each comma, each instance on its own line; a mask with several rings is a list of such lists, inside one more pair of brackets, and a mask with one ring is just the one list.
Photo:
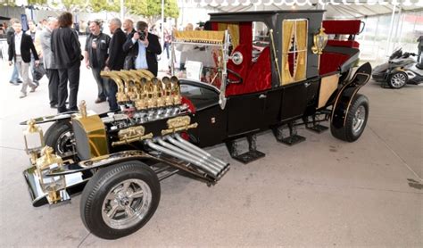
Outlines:
[[9, 65], [14, 60], [16, 67], [21, 74], [23, 84], [21, 88], [20, 98], [27, 96], [27, 87], [31, 87], [29, 92], [34, 92], [37, 85], [29, 79], [29, 62], [31, 62], [31, 52], [35, 59], [36, 66], [39, 59], [32, 38], [22, 32], [20, 22], [13, 23], [14, 35], [11, 37], [9, 44]]

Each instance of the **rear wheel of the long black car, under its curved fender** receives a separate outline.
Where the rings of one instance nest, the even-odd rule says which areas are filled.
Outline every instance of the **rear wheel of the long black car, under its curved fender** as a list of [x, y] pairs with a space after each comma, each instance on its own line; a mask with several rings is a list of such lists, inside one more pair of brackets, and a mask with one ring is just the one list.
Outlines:
[[342, 128], [335, 128], [330, 125], [330, 132], [333, 136], [347, 142], [356, 141], [366, 128], [369, 116], [369, 99], [364, 95], [355, 95], [348, 109], [345, 125]]

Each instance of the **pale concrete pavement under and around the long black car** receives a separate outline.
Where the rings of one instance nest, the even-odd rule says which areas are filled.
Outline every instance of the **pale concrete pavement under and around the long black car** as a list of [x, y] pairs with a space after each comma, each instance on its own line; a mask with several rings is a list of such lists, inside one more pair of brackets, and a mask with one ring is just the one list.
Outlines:
[[[286, 146], [264, 132], [257, 145], [266, 156], [246, 165], [232, 160], [225, 145], [213, 146], [208, 152], [231, 163], [216, 186], [168, 178], [145, 227], [103, 240], [82, 224], [80, 195], [69, 204], [32, 207], [18, 123], [55, 110], [46, 79], [19, 99], [20, 87], [8, 83], [11, 69], [0, 62], [1, 247], [423, 247], [423, 86], [391, 90], [370, 81], [361, 89], [370, 102], [368, 126], [354, 143], [299, 128], [307, 140]], [[106, 111], [95, 97], [93, 76], [82, 68], [79, 100]]]

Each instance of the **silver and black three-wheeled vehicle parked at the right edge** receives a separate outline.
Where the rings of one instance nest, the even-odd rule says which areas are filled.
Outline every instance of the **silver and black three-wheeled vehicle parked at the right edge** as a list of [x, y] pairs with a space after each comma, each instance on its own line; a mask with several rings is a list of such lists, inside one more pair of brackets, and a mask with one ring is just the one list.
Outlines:
[[395, 49], [389, 57], [389, 61], [375, 67], [371, 76], [392, 88], [423, 83], [423, 63], [418, 63], [413, 58], [415, 56], [417, 54], [402, 53], [401, 47]]

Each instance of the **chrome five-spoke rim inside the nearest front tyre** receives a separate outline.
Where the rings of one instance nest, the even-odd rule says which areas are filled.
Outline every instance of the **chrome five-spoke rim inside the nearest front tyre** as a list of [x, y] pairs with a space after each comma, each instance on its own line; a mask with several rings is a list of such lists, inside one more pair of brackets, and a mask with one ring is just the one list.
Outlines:
[[107, 226], [125, 229], [145, 218], [152, 203], [152, 191], [141, 179], [127, 179], [113, 186], [106, 195], [102, 216]]

